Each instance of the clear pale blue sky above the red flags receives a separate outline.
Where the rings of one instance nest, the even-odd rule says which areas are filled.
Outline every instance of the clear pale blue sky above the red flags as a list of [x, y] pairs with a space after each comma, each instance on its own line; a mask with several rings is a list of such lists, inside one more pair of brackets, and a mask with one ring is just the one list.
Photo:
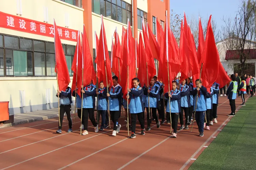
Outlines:
[[223, 16], [234, 18], [240, 2], [241, 0], [170, 0], [170, 10], [175, 14], [181, 14], [181, 17], [185, 11], [187, 18], [194, 16], [198, 19], [200, 14], [202, 21], [212, 15], [218, 29], [221, 29], [225, 24], [222, 21]]

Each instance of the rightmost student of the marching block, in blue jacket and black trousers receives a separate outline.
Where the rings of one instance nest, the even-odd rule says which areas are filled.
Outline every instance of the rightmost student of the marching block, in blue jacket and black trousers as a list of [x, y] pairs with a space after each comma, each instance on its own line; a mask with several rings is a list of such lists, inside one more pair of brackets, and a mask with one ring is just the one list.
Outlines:
[[210, 112], [210, 125], [213, 125], [213, 123], [218, 123], [217, 121], [217, 108], [218, 108], [218, 102], [219, 102], [219, 84], [213, 83], [212, 85], [212, 109]]

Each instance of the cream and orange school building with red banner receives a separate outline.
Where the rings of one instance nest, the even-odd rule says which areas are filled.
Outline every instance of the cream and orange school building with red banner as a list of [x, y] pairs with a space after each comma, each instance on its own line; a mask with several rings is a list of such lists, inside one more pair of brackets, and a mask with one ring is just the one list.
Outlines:
[[[59, 28], [58, 34], [63, 44], [72, 83], [71, 65], [77, 32], [83, 31], [83, 24], [85, 24], [94, 61], [94, 32], [100, 35], [100, 15], [103, 15], [108, 50], [111, 53], [112, 35], [117, 27], [121, 41], [122, 27], [127, 27], [128, 18], [133, 36], [138, 40], [142, 29], [142, 17], [144, 22], [149, 23], [155, 34], [156, 17], [164, 28], [166, 14], [170, 19], [169, 0], [2, 1], [0, 5], [0, 86], [2, 89], [0, 102], [9, 101], [10, 114], [58, 107], [58, 99], [55, 96], [57, 81], [54, 71], [53, 19]], [[157, 66], [158, 62], [155, 61], [155, 64]]]

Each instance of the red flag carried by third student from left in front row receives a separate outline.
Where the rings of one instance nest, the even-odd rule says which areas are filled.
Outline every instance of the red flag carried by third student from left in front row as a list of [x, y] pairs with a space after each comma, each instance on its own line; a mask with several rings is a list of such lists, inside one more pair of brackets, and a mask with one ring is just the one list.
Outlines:
[[[99, 48], [98, 48], [97, 58], [95, 59], [95, 63], [97, 63], [99, 65], [99, 68], [102, 70], [104, 85], [106, 86], [109, 83], [111, 83], [112, 85], [113, 83], [112, 83], [111, 64], [109, 60], [108, 45], [106, 42], [106, 34], [105, 34], [102, 15], [101, 15]], [[106, 79], [108, 79], [108, 82], [106, 82]]]

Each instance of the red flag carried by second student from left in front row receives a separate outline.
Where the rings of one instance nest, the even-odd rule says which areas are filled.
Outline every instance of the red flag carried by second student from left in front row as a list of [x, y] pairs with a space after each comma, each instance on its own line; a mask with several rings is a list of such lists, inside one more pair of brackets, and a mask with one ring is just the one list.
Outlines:
[[87, 86], [88, 84], [93, 81], [93, 84], [96, 84], [96, 74], [94, 71], [93, 67], [93, 60], [91, 58], [91, 52], [89, 48], [89, 43], [85, 31], [85, 26], [84, 26], [84, 31], [83, 31], [83, 65], [82, 68], [84, 68], [84, 86]]

